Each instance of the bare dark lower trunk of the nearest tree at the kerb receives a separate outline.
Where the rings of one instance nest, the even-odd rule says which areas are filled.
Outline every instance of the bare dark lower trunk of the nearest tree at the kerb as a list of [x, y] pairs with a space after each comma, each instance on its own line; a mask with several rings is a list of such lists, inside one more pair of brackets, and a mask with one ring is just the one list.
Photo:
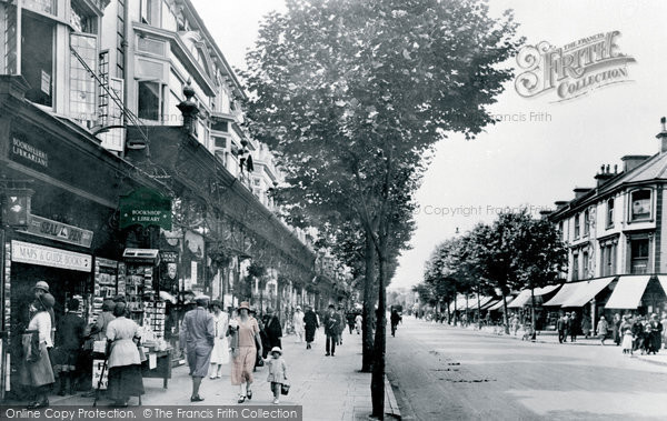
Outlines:
[[372, 401], [372, 414], [379, 420], [385, 419], [385, 352], [387, 341], [387, 240], [380, 235], [379, 239], [379, 277], [378, 277], [378, 310], [375, 335], [374, 364], [370, 382], [370, 397]]

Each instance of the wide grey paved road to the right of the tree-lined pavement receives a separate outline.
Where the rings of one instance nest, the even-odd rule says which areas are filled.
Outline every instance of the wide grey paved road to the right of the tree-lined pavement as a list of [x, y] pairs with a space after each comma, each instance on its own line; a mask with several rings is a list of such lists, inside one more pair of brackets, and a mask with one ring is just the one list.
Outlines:
[[619, 348], [530, 343], [404, 319], [387, 338], [404, 419], [667, 419], [667, 368]]

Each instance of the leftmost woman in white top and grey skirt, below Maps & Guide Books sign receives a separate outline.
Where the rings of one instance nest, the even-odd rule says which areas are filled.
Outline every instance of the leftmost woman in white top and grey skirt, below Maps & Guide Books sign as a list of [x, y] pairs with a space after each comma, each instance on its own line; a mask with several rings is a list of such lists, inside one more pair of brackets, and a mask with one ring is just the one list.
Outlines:
[[31, 387], [34, 398], [28, 409], [48, 407], [47, 393], [56, 382], [49, 358], [49, 349], [53, 347], [49, 309], [53, 309], [53, 304], [56, 299], [47, 292], [36, 295], [29, 309], [32, 317], [22, 338], [23, 357], [20, 370], [21, 384]]

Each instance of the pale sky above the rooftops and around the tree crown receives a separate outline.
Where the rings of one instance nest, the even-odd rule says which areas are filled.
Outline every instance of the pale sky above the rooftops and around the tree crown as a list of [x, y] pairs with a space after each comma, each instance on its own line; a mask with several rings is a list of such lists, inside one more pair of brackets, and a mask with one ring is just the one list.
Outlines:
[[[285, 10], [282, 0], [192, 0], [231, 66], [243, 68], [259, 20]], [[524, 98], [514, 80], [490, 111], [501, 120], [475, 140], [451, 134], [437, 144], [416, 194], [417, 230], [399, 259], [390, 288], [419, 283], [424, 263], [441, 241], [501, 210], [526, 208], [536, 218], [557, 200], [574, 199], [575, 187], [594, 187], [601, 164], [626, 154], [654, 154], [660, 117], [667, 116], [667, 54], [663, 0], [491, 0], [491, 16], [512, 9], [527, 46], [565, 47], [598, 33], [619, 31], [616, 51], [636, 60], [624, 83], [591, 90], [568, 101], [554, 91]], [[509, 66], [517, 68], [516, 60]], [[518, 69], [517, 73], [525, 70]], [[567, 80], [566, 80], [567, 81]]]

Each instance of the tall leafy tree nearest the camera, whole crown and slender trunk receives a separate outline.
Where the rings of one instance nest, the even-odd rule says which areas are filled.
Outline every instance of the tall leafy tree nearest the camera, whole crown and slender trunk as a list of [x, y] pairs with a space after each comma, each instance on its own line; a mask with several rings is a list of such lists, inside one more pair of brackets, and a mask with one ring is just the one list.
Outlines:
[[[302, 209], [346, 209], [377, 257], [374, 415], [384, 417], [387, 265], [425, 157], [448, 132], [494, 122], [521, 40], [480, 0], [287, 0], [247, 54], [252, 134], [277, 151]], [[331, 204], [336, 204], [332, 207]], [[337, 209], [339, 211], [340, 209]], [[375, 268], [375, 264], [367, 264]], [[367, 280], [372, 278], [367, 277]]]

